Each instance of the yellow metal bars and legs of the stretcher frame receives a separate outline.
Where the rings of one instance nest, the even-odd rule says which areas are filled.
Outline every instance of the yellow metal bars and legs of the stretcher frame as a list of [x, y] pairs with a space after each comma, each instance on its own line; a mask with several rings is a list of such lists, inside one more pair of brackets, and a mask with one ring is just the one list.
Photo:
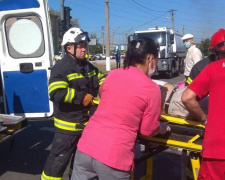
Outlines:
[[[172, 117], [168, 115], [161, 115], [161, 120], [169, 122], [169, 124], [176, 124], [181, 126], [193, 127], [198, 129], [205, 129], [205, 125], [200, 122], [190, 121], [178, 117]], [[190, 179], [197, 180], [198, 172], [200, 169], [200, 152], [202, 151], [202, 145], [196, 144], [195, 141], [202, 138], [200, 134], [193, 135], [193, 137], [188, 141], [178, 141], [166, 138], [161, 138], [157, 136], [146, 137], [139, 135], [141, 139], [147, 140], [150, 144], [157, 144], [160, 146], [166, 146], [171, 148], [182, 149], [182, 174], [181, 179], [186, 180], [187, 176]], [[190, 152], [189, 158], [191, 162], [192, 169], [187, 167], [187, 151]], [[153, 157], [147, 158], [146, 161], [146, 174], [141, 178], [141, 180], [152, 180], [153, 171]], [[189, 172], [189, 173], [188, 173]], [[131, 174], [131, 180], [134, 180], [134, 173]]]

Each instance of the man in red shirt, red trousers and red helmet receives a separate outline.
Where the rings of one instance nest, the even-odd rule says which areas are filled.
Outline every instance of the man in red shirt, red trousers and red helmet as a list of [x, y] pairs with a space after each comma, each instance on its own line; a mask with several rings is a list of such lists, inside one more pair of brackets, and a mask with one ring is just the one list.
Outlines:
[[[225, 179], [225, 29], [212, 36], [211, 49], [219, 60], [206, 66], [182, 95], [186, 108], [206, 124], [198, 180]], [[208, 117], [198, 103], [207, 95]]]

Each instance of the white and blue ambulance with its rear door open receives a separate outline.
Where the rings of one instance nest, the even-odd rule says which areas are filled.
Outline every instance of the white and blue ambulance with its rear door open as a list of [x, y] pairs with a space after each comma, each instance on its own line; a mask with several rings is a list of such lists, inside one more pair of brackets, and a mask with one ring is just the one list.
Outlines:
[[0, 0], [0, 142], [49, 117], [53, 43], [47, 0]]

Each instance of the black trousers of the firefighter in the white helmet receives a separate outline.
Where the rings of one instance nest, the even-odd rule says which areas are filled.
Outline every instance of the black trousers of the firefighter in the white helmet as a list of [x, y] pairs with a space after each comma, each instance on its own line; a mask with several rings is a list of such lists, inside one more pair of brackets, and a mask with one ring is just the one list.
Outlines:
[[55, 133], [52, 149], [46, 160], [41, 179], [62, 177], [70, 159], [70, 168], [73, 168], [74, 155], [79, 139], [80, 135], [73, 136], [58, 132]]

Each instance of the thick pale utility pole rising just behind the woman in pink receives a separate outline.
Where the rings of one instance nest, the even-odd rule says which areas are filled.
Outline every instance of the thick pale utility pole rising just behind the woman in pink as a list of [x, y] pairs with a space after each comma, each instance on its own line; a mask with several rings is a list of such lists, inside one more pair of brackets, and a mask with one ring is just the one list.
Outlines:
[[110, 71], [110, 43], [109, 43], [109, 0], [105, 0], [105, 22], [106, 22], [106, 71]]

